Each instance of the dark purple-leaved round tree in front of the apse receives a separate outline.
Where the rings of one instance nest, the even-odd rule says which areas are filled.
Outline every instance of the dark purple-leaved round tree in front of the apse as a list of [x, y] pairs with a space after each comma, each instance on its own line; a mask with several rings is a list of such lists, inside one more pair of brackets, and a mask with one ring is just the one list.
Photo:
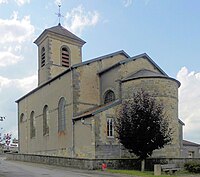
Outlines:
[[172, 140], [163, 105], [143, 90], [122, 103], [115, 125], [119, 142], [139, 157], [142, 171], [145, 159], [153, 150], [163, 148]]

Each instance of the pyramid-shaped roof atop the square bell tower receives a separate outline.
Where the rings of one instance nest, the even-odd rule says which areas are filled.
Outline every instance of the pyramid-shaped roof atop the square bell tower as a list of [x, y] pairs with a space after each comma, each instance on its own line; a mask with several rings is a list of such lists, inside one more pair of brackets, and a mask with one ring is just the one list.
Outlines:
[[70, 38], [72, 40], [75, 40], [75, 41], [81, 43], [82, 45], [86, 43], [84, 40], [82, 40], [81, 38], [77, 37], [75, 34], [71, 33], [66, 28], [61, 26], [60, 23], [57, 26], [53, 26], [51, 28], [45, 29], [43, 31], [43, 33], [34, 41], [34, 43], [38, 45], [40, 39], [47, 33], [54, 33], [54, 34], [60, 35], [62, 37]]

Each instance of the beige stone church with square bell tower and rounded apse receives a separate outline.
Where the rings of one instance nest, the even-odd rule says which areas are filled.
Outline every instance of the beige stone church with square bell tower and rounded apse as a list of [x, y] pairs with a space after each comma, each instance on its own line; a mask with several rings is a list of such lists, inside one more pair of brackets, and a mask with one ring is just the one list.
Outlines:
[[61, 24], [45, 29], [38, 46], [38, 86], [19, 98], [18, 137], [22, 154], [72, 158], [125, 158], [114, 120], [121, 103], [140, 89], [164, 103], [172, 143], [154, 157], [180, 157], [179, 81], [146, 53], [117, 51], [82, 62], [86, 43]]

